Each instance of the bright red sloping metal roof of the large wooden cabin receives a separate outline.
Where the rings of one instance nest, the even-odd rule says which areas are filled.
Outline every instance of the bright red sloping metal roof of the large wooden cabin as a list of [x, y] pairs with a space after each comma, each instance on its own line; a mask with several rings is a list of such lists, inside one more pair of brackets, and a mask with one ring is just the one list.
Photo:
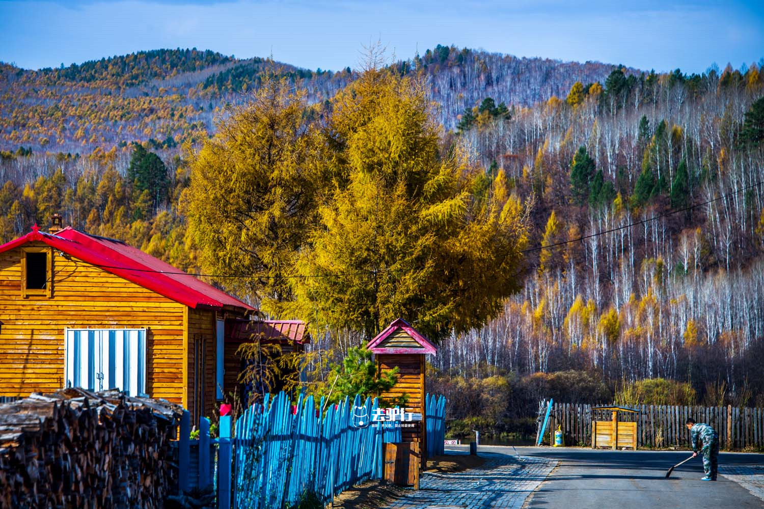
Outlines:
[[121, 240], [96, 237], [66, 227], [56, 234], [40, 231], [35, 225], [23, 237], [0, 246], [0, 253], [28, 242], [44, 242], [54, 249], [82, 259], [106, 272], [141, 285], [159, 295], [189, 306], [189, 308], [239, 308], [254, 311], [249, 304], [231, 297], [193, 275], [154, 258], [143, 251], [128, 246]]

